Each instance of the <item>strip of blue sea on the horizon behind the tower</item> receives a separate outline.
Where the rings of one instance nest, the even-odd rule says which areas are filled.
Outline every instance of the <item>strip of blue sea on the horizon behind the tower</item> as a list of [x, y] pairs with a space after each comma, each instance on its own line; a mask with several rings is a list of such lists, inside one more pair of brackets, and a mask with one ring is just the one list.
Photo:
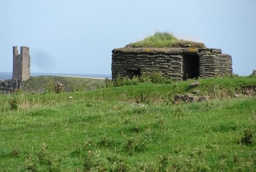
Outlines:
[[[111, 79], [111, 74], [31, 73], [31, 76], [81, 76], [81, 77]], [[11, 78], [12, 78], [12, 72], [0, 72], [0, 80], [11, 79]]]

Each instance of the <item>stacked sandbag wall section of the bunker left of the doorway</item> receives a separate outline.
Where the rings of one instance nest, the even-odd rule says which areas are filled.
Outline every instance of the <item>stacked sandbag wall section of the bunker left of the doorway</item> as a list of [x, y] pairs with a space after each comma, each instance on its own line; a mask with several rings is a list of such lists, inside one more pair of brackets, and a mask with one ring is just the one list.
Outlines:
[[112, 55], [112, 77], [129, 75], [129, 71], [140, 73], [157, 72], [174, 79], [182, 79], [182, 56], [166, 54], [121, 54]]

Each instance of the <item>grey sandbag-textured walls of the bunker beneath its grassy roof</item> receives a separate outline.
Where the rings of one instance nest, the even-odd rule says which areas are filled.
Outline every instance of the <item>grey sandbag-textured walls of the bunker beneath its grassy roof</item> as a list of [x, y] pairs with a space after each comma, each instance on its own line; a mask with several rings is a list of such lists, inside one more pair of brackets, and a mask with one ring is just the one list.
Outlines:
[[133, 73], [158, 72], [168, 78], [181, 80], [190, 70], [189, 64], [184, 65], [184, 57], [189, 55], [199, 58], [197, 70], [200, 77], [232, 73], [231, 56], [222, 54], [220, 49], [119, 48], [112, 53], [113, 79], [118, 74], [131, 77]]

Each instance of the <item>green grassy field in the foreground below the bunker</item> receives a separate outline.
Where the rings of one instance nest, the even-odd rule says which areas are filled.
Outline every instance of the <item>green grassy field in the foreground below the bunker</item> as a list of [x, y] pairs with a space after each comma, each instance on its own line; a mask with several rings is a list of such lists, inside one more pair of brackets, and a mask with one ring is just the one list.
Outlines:
[[0, 95], [0, 170], [253, 171], [255, 77], [194, 81]]

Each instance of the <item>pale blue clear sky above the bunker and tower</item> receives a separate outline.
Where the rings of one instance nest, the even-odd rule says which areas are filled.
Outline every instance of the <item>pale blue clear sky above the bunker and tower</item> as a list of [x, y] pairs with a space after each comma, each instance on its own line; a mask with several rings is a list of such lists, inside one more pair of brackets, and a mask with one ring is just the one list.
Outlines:
[[256, 1], [0, 0], [0, 71], [12, 46], [29, 46], [31, 71], [111, 74], [111, 51], [156, 31], [201, 40], [256, 69]]

